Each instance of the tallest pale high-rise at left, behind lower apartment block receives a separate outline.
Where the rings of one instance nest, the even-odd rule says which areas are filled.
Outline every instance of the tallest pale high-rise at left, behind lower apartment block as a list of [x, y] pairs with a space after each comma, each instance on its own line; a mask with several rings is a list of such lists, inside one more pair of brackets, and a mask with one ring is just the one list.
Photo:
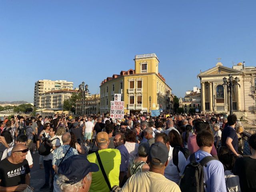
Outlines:
[[73, 89], [73, 82], [68, 82], [66, 80], [38, 80], [35, 82], [34, 88], [34, 106], [36, 108], [41, 108], [39, 96], [45, 92], [50, 92], [54, 90], [62, 89]]

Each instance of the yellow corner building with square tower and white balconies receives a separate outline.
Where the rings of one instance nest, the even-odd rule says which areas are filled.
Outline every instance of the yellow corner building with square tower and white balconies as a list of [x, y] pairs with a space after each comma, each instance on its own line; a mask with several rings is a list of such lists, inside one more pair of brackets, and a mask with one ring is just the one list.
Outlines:
[[[100, 85], [100, 113], [110, 112], [114, 94], [122, 94], [124, 113], [163, 109], [172, 112], [172, 89], [158, 72], [156, 54], [135, 56], [135, 70], [121, 71], [104, 79]], [[150, 100], [151, 98], [151, 100]]]

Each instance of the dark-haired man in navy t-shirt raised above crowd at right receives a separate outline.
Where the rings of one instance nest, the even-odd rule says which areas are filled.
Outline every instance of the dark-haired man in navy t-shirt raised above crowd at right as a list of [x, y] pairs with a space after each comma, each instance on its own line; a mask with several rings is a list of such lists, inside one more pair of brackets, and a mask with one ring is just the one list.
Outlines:
[[238, 137], [235, 130], [236, 115], [232, 114], [228, 116], [228, 126], [222, 131], [221, 134], [221, 146], [227, 146], [232, 154], [241, 156], [238, 154]]

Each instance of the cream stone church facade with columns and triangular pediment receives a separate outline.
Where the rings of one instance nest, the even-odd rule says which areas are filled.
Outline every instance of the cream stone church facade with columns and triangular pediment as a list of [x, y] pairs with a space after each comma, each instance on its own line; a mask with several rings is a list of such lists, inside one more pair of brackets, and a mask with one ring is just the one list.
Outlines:
[[233, 86], [232, 106], [238, 118], [246, 116], [256, 119], [256, 67], [245, 67], [238, 63], [232, 68], [218, 62], [215, 67], [198, 74], [201, 84], [201, 112], [228, 113], [230, 112], [230, 95], [228, 87], [223, 85], [223, 78], [229, 75], [238, 77], [239, 85]]

